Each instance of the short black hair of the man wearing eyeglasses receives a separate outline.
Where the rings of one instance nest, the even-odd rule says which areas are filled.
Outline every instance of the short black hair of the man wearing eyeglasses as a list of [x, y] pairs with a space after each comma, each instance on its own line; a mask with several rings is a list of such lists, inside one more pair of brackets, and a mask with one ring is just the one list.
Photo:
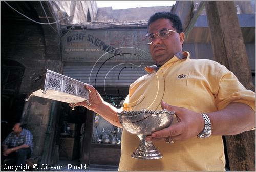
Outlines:
[[163, 18], [170, 20], [170, 22], [173, 23], [173, 28], [175, 28], [178, 33], [183, 32], [180, 17], [171, 12], [157, 12], [153, 14], [148, 20], [147, 30], [151, 23], [155, 22], [158, 19], [163, 19]]

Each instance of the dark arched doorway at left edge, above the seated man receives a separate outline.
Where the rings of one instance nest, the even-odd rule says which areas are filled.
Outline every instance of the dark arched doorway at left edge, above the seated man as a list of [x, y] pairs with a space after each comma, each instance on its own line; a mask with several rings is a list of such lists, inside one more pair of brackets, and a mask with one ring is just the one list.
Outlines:
[[22, 117], [25, 94], [19, 94], [25, 67], [14, 60], [1, 61], [1, 140]]

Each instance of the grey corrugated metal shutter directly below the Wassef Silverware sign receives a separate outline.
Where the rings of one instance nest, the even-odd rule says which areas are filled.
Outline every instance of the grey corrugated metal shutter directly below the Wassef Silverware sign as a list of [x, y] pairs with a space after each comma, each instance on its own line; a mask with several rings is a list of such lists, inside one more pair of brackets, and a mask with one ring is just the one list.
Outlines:
[[139, 77], [147, 74], [145, 63], [65, 63], [63, 75], [89, 83], [94, 87], [129, 87]]

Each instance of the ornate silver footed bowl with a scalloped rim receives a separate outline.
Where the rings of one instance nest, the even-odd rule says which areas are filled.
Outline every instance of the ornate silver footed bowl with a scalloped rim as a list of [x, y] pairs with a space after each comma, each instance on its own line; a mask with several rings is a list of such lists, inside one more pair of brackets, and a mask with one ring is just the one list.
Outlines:
[[140, 138], [139, 147], [131, 155], [136, 159], [159, 159], [163, 155], [153, 145], [152, 141], [146, 141], [146, 136], [153, 132], [168, 127], [173, 121], [174, 111], [140, 110], [122, 111], [118, 113], [123, 128]]

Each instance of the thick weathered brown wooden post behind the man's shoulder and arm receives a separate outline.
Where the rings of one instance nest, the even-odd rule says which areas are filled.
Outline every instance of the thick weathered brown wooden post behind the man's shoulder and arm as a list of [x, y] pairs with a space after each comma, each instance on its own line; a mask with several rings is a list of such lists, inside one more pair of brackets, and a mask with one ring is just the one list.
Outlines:
[[[207, 1], [205, 4], [214, 60], [225, 65], [250, 90], [249, 60], [233, 1]], [[231, 171], [255, 170], [255, 131], [225, 136]]]

